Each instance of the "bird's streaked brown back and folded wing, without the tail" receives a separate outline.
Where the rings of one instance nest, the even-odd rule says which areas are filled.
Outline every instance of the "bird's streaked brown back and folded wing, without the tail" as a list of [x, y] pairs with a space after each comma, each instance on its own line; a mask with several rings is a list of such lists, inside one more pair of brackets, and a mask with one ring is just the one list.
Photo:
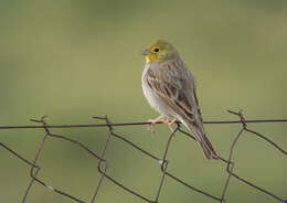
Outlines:
[[194, 120], [194, 115], [199, 115], [196, 117], [202, 120], [194, 78], [180, 60], [149, 68], [147, 84], [181, 117]]

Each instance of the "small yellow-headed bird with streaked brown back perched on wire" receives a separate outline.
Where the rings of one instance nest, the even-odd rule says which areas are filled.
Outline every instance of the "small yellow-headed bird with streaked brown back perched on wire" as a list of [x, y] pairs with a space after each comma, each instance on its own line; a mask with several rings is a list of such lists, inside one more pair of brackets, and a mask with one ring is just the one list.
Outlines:
[[179, 52], [166, 40], [157, 40], [141, 52], [146, 64], [141, 75], [144, 95], [160, 116], [148, 120], [155, 132], [157, 122], [166, 124], [171, 131], [177, 121], [194, 133], [206, 159], [219, 159], [203, 128], [202, 114], [192, 73], [181, 60]]

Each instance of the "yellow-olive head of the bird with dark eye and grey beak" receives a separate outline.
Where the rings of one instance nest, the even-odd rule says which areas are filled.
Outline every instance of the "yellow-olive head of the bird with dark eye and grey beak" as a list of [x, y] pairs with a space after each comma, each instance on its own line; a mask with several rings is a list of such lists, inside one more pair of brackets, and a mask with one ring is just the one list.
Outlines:
[[156, 43], [146, 47], [142, 52], [147, 63], [163, 62], [178, 55], [177, 50], [167, 41], [158, 40]]

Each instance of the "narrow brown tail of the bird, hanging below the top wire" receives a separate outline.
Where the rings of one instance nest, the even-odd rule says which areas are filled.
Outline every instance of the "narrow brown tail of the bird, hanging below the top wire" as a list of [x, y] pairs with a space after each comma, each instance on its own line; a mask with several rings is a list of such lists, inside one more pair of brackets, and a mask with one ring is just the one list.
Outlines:
[[219, 159], [217, 153], [213, 149], [210, 140], [208, 139], [202, 125], [195, 122], [188, 122], [187, 127], [194, 132], [195, 140], [200, 143], [203, 152], [208, 159]]

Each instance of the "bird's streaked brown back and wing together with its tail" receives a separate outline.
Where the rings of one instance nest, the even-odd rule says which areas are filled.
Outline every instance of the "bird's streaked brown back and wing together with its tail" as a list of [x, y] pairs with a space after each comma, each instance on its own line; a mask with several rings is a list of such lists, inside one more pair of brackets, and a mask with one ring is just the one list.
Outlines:
[[[192, 74], [183, 62], [176, 61], [147, 72], [147, 84], [177, 115], [184, 125], [194, 132], [208, 159], [217, 159], [217, 154], [209, 141], [202, 124], [202, 116], [195, 93]], [[182, 121], [182, 120], [180, 120]]]

